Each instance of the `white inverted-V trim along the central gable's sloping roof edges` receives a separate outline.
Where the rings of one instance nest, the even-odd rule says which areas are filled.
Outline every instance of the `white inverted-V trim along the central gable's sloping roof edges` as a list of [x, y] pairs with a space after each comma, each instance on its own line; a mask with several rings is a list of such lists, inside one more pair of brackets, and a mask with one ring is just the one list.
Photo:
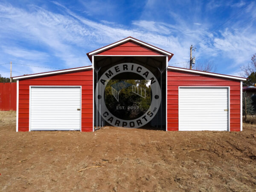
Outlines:
[[[166, 51], [164, 51], [164, 50], [162, 50], [162, 49], [159, 49], [159, 48], [157, 48], [157, 47], [153, 47], [153, 46], [151, 46], [151, 45], [149, 45], [149, 44], [146, 44], [146, 43], [144, 43], [144, 42], [142, 42], [142, 41], [139, 41], [139, 40], [134, 39], [134, 38], [131, 38], [131, 37], [128, 37], [128, 38], [126, 38], [126, 39], [123, 39], [123, 40], [121, 40], [121, 41], [118, 41], [118, 42], [116, 42], [116, 43], [113, 43], [113, 44], [111, 44], [111, 45], [108, 45], [108, 46], [106, 46], [106, 47], [102, 47], [101, 49], [97, 49], [97, 50], [95, 50], [95, 51], [93, 51], [93, 52], [90, 52], [89, 55], [95, 55], [95, 54], [98, 53], [98, 52], [102, 52], [102, 51], [104, 51], [105, 49], [109, 49], [109, 48], [111, 48], [111, 47], [115, 47], [116, 45], [125, 43], [126, 41], [130, 41], [130, 40], [131, 40], [131, 41], [134, 41], [134, 42], [136, 42], [136, 43], [138, 43], [138, 44], [142, 44], [142, 45], [144, 45], [145, 47], [149, 47], [149, 48], [151, 48], [151, 49], [157, 50], [158, 52], [164, 53], [165, 55], [173, 55], [172, 53], [166, 52]], [[134, 56], [134, 55], [133, 55], [133, 56]]]

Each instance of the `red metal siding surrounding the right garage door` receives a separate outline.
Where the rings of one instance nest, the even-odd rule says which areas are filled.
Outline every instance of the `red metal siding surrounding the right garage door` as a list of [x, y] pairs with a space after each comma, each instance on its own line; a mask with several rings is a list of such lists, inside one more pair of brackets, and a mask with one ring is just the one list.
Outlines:
[[230, 87], [230, 131], [240, 131], [240, 81], [195, 73], [167, 71], [167, 130], [178, 131], [179, 86]]

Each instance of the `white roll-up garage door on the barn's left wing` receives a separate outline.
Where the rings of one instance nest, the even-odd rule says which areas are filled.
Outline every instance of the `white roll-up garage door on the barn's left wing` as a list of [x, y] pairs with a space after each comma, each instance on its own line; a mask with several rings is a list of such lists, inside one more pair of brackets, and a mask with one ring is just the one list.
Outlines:
[[80, 87], [31, 87], [31, 131], [80, 130]]

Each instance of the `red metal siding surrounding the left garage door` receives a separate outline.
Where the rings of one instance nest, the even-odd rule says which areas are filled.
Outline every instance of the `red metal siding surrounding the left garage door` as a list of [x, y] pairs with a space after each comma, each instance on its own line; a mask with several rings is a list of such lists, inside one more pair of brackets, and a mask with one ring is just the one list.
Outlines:
[[29, 86], [81, 86], [81, 131], [93, 131], [93, 70], [19, 80], [18, 131], [29, 131]]

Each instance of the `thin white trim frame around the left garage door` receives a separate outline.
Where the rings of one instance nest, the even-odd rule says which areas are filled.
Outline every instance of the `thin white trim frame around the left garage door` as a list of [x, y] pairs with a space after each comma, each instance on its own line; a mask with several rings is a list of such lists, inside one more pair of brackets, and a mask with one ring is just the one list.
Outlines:
[[31, 87], [80, 87], [80, 131], [82, 129], [82, 86], [81, 85], [29, 85], [29, 131], [31, 131]]

